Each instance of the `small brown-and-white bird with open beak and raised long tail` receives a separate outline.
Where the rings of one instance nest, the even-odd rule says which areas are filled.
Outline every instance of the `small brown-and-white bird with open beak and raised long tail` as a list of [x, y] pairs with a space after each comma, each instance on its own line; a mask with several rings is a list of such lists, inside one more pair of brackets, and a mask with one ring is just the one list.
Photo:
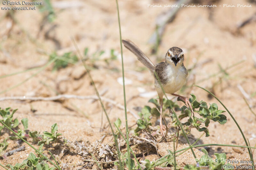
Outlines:
[[[144, 64], [152, 73], [155, 78], [155, 88], [159, 97], [160, 104], [160, 132], [164, 137], [164, 126], [162, 124], [162, 110], [163, 110], [163, 96], [164, 92], [177, 96], [180, 100], [184, 101], [186, 106], [191, 109], [194, 114], [192, 105], [187, 97], [175, 94], [184, 85], [186, 78], [188, 77], [188, 71], [185, 68], [184, 54], [181, 48], [172, 47], [169, 48], [165, 54], [165, 62], [156, 64], [156, 66], [150, 61], [150, 59], [130, 40], [122, 40], [124, 47], [128, 48], [137, 59]], [[161, 88], [161, 85], [164, 92]]]

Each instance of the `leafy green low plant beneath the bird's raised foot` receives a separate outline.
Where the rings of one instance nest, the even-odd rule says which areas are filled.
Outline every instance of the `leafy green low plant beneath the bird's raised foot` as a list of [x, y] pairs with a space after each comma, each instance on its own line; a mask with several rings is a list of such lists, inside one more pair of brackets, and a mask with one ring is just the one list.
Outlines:
[[[199, 132], [204, 131], [205, 136], [209, 137], [210, 133], [207, 127], [210, 124], [210, 120], [214, 122], [219, 122], [220, 124], [225, 124], [227, 122], [227, 117], [222, 114], [225, 111], [219, 110], [216, 103], [210, 104], [210, 106], [208, 107], [205, 101], [201, 100], [200, 102], [198, 102], [194, 94], [191, 94], [189, 101], [192, 105], [193, 111], [195, 113], [198, 113], [198, 115], [200, 115], [201, 117], [196, 117], [195, 115], [192, 115], [191, 110], [187, 106], [179, 107], [175, 102], [171, 100], [163, 100], [163, 113], [165, 110], [167, 110], [167, 108], [171, 107], [174, 108], [176, 111], [180, 111], [179, 120], [188, 118], [187, 122], [181, 123], [186, 133], [189, 134], [191, 128], [196, 128]], [[150, 99], [149, 102], [154, 103], [156, 107], [160, 109], [160, 106], [156, 99]], [[135, 133], [137, 133], [141, 129], [147, 129], [148, 125], [151, 125], [149, 117], [151, 115], [159, 115], [156, 107], [151, 108], [149, 106], [145, 106], [141, 110], [141, 112], [138, 113], [140, 119], [137, 120], [138, 127], [135, 129]], [[178, 121], [173, 115], [172, 124], [175, 127], [179, 126]]]

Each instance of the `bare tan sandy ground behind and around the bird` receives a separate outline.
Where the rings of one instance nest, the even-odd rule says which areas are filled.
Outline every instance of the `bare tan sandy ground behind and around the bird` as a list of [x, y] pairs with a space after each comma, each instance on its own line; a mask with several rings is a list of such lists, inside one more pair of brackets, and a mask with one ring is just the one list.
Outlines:
[[[65, 3], [68, 6], [65, 6]], [[191, 87], [191, 85], [196, 84], [210, 89], [233, 114], [251, 146], [255, 146], [256, 117], [250, 112], [243, 98], [247, 97], [252, 110], [256, 112], [256, 63], [255, 60], [253, 61], [253, 56], [254, 58], [256, 56], [256, 22], [252, 21], [239, 30], [236, 29], [236, 26], [255, 13], [256, 4], [246, 0], [222, 0], [212, 2], [212, 4], [217, 4], [216, 8], [181, 8], [174, 20], [167, 24], [157, 55], [151, 55], [151, 45], [147, 41], [155, 30], [157, 16], [167, 11], [168, 8], [150, 8], [148, 4], [164, 5], [173, 3], [175, 2], [164, 0], [120, 1], [122, 38], [130, 39], [137, 44], [153, 63], [164, 61], [166, 50], [170, 47], [182, 48], [185, 54], [185, 67], [191, 69], [195, 63], [197, 65], [191, 70], [187, 78], [186, 85], [189, 88], [177, 93], [188, 97], [190, 93], [194, 93], [198, 100], [217, 103], [219, 108], [224, 110], [217, 100], [209, 98], [208, 94], [202, 89]], [[200, 3], [206, 4], [205, 2]], [[236, 6], [238, 3], [249, 4], [252, 7], [223, 7], [223, 4], [234, 4]], [[71, 6], [71, 4], [73, 5]], [[194, 4], [197, 5], [197, 2]], [[86, 63], [97, 67], [97, 69], [91, 70], [91, 74], [99, 92], [105, 92], [103, 95], [105, 98], [123, 105], [123, 87], [117, 81], [118, 78], [122, 77], [120, 55], [118, 55], [117, 60], [110, 61], [109, 64], [104, 62], [103, 59], [94, 63], [90, 60], [92, 54], [97, 50], [110, 51], [110, 49], [114, 49], [120, 54], [115, 1], [52, 1], [52, 5], [56, 12], [56, 18], [52, 23], [44, 23], [42, 30], [40, 30], [40, 25], [43, 23], [44, 13], [41, 13], [39, 9], [15, 11], [13, 16], [17, 22], [14, 22], [8, 15], [6, 16], [7, 11], [0, 11], [0, 27], [2, 28], [0, 30], [2, 37], [0, 40], [0, 76], [46, 63], [49, 54], [53, 51], [60, 55], [75, 51], [70, 39], [72, 36], [81, 51], [84, 51], [86, 47], [89, 49], [88, 56], [90, 58]], [[56, 25], [56, 27], [52, 29], [53, 25]], [[60, 47], [57, 47], [54, 41], [45, 37], [46, 32], [49, 32], [50, 36], [60, 43]], [[144, 66], [136, 60], [131, 52], [125, 48], [123, 52], [125, 78], [132, 82], [125, 86], [127, 108], [137, 113], [138, 111], [134, 109], [136, 107], [144, 107], [145, 105], [153, 107], [151, 103], [148, 103], [148, 100], [157, 97], [156, 93], [148, 97], [139, 96], [141, 91], [155, 91], [153, 77], [148, 70], [143, 69]], [[109, 58], [110, 55], [105, 53], [102, 55], [103, 57]], [[211, 59], [210, 62], [204, 63], [209, 59]], [[223, 76], [223, 74], [210, 77], [220, 71], [218, 64], [225, 69], [236, 63], [239, 64], [227, 70], [228, 77]], [[34, 70], [1, 78], [0, 91], [19, 84], [36, 72], [37, 70]], [[202, 79], [205, 80], [200, 82]], [[239, 90], [238, 87], [240, 86], [244, 89], [244, 94], [241, 92], [241, 88]], [[22, 85], [1, 93], [0, 97], [24, 95], [49, 97], [55, 96], [56, 91], [60, 94], [82, 96], [96, 94], [82, 63], [78, 62], [54, 72], [52, 71], [52, 65], [50, 65]], [[103, 103], [110, 121], [114, 122], [117, 118], [120, 118], [122, 121], [121, 129], [124, 129], [124, 110], [111, 103]], [[181, 103], [179, 104], [181, 105]], [[102, 141], [103, 144], [113, 142], [113, 138], [109, 135], [111, 131], [105, 115], [103, 115], [105, 130], [100, 132], [103, 112], [98, 100], [69, 99], [63, 102], [5, 100], [0, 101], [0, 107], [18, 108], [14, 117], [19, 120], [27, 117], [29, 120], [28, 129], [31, 131], [37, 130], [41, 133], [45, 130], [50, 131], [51, 125], [56, 122], [58, 132], [62, 133], [62, 136], [71, 142], [80, 141], [89, 146], [96, 140], [100, 140], [104, 135], [106, 137]], [[36, 112], [32, 112], [31, 109], [36, 110]], [[84, 116], [79, 110], [82, 110], [87, 116]], [[210, 137], [203, 136], [200, 140], [201, 143], [245, 145], [236, 124], [227, 112], [224, 115], [228, 117], [228, 122], [225, 125], [211, 122], [208, 128]], [[128, 120], [129, 126], [137, 121], [130, 113], [128, 113]], [[192, 130], [192, 135], [196, 139], [200, 137], [201, 133]], [[3, 141], [7, 136], [7, 133], [2, 134], [0, 141]], [[30, 139], [28, 141], [31, 142]], [[18, 145], [15, 141], [8, 140], [8, 142], [9, 146], [4, 152], [11, 151]], [[247, 149], [232, 147], [210, 147], [209, 149], [211, 156], [215, 152], [225, 152], [228, 159], [250, 159]], [[60, 156], [58, 149], [52, 148], [52, 151], [55, 156]], [[26, 159], [30, 152], [34, 151], [26, 146], [25, 151], [0, 159], [0, 162], [4, 165], [8, 163], [14, 165]], [[253, 156], [255, 159], [255, 152], [253, 152]], [[156, 159], [157, 155], [152, 153], [152, 155], [146, 155], [146, 157], [153, 160]], [[186, 160], [188, 163], [195, 163], [192, 157], [188, 156]], [[84, 160], [76, 154], [65, 154], [59, 161], [63, 169], [79, 169], [84, 166]], [[64, 166], [64, 164], [68, 166]], [[182, 161], [180, 165], [183, 165]]]

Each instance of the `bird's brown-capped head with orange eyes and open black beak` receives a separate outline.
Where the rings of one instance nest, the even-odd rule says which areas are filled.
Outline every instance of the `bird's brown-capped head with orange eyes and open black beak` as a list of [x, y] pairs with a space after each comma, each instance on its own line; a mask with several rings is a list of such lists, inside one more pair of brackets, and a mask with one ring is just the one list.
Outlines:
[[184, 54], [182, 49], [180, 49], [179, 47], [170, 48], [165, 55], [165, 61], [168, 64], [180, 66], [184, 61]]

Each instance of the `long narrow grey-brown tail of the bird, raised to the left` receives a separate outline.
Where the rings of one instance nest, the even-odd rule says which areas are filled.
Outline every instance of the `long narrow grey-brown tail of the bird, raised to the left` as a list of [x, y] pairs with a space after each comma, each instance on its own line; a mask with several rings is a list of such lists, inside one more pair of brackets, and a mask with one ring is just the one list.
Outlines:
[[133, 54], [135, 54], [138, 58], [138, 60], [144, 64], [148, 69], [154, 74], [155, 66], [154, 64], [149, 60], [149, 58], [138, 48], [132, 41], [130, 40], [122, 40], [124, 43], [124, 47], [128, 48], [130, 51], [132, 51]]

